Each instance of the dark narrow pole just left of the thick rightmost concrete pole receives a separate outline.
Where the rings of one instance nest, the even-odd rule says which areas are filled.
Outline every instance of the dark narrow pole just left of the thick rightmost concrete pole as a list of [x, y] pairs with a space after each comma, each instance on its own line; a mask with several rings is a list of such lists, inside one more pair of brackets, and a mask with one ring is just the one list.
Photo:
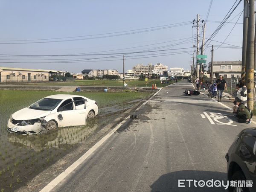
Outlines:
[[243, 24], [243, 49], [242, 49], [241, 79], [245, 78], [247, 31], [248, 31], [248, 17], [249, 17], [249, 7], [248, 7], [248, 5], [249, 5], [248, 0], [244, 0], [244, 24]]

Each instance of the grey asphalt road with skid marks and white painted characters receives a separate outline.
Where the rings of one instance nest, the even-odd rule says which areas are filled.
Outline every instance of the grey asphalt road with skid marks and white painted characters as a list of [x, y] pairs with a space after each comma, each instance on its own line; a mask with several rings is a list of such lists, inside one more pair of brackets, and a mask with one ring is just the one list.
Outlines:
[[163, 88], [53, 191], [224, 191], [179, 188], [178, 179], [226, 180], [228, 148], [255, 125], [235, 122], [203, 94], [185, 96], [188, 88], [186, 81]]

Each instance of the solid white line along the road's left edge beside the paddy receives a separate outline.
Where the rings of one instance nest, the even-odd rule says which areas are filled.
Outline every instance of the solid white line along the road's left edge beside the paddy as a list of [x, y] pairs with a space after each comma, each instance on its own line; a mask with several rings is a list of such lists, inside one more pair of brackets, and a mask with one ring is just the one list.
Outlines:
[[[162, 88], [160, 88], [161, 90]], [[157, 93], [160, 92], [160, 90], [157, 91]], [[151, 98], [149, 98], [147, 101], [145, 101], [141, 106], [145, 105], [149, 100], [151, 100], [157, 93], [155, 93]], [[140, 107], [141, 107], [140, 106]], [[140, 108], [139, 107], [139, 108]], [[137, 109], [139, 109], [137, 108]], [[137, 110], [136, 109], [136, 110]], [[55, 186], [58, 185], [62, 180], [64, 180], [65, 177], [67, 177], [71, 172], [73, 172], [81, 163], [83, 163], [97, 148], [99, 148], [102, 143], [104, 143], [106, 140], [108, 140], [111, 135], [115, 133], [117, 129], [119, 129], [127, 119], [129, 119], [130, 116], [127, 116], [122, 122], [120, 122], [114, 129], [112, 129], [105, 137], [103, 137], [101, 140], [99, 140], [98, 143], [92, 146], [85, 154], [83, 154], [78, 160], [76, 160], [71, 166], [69, 166], [67, 169], [64, 170], [60, 175], [55, 177], [50, 183], [47, 184], [40, 192], [49, 192], [51, 191]]]

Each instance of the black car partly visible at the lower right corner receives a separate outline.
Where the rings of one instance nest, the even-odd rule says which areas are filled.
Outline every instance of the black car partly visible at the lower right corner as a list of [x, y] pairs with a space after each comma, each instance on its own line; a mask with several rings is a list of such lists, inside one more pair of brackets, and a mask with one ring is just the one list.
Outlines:
[[[229, 187], [229, 192], [256, 192], [256, 128], [241, 131], [226, 154], [229, 182], [244, 181], [244, 186]], [[247, 187], [246, 187], [247, 186]], [[252, 186], [252, 187], [250, 187]]]

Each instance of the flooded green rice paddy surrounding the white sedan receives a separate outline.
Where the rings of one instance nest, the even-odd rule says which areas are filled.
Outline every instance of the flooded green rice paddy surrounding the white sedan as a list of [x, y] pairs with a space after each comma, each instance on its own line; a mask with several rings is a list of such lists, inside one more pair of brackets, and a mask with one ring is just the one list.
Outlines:
[[[59, 128], [46, 134], [18, 135], [6, 131], [9, 116], [29, 106], [51, 91], [0, 90], [0, 190], [14, 191], [35, 175], [55, 163], [87, 138], [96, 134], [122, 111], [125, 111], [151, 93], [77, 93], [99, 101], [99, 116], [79, 127]], [[63, 94], [63, 93], [62, 93]], [[65, 94], [65, 93], [64, 93]], [[66, 93], [70, 94], [70, 93]], [[121, 95], [120, 95], [121, 94]], [[106, 97], [107, 96], [107, 97]], [[122, 96], [122, 98], [120, 98]], [[95, 97], [95, 98], [94, 98]], [[98, 100], [98, 101], [97, 101]]]

